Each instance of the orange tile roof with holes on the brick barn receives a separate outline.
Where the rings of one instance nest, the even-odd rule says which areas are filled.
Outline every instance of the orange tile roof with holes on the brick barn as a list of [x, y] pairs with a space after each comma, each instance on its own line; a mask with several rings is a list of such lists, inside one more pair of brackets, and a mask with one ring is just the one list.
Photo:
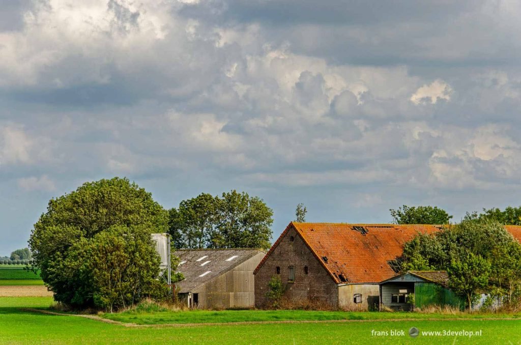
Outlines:
[[[405, 242], [441, 225], [334, 224], [292, 222], [255, 269], [262, 267], [289, 229], [294, 228], [337, 284], [378, 283], [396, 275], [388, 261], [402, 255]], [[506, 226], [521, 242], [521, 226]]]

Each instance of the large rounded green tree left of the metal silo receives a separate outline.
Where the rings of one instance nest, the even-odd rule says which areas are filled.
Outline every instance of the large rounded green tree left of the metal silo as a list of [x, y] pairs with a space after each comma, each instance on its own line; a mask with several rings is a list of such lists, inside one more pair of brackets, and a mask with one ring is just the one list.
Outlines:
[[[167, 229], [167, 214], [150, 193], [128, 179], [113, 178], [84, 183], [76, 191], [49, 201], [47, 212], [34, 225], [29, 244], [34, 265], [41, 269], [42, 279], [57, 301], [75, 307], [107, 307], [111, 299], [108, 295], [105, 299], [106, 290], [100, 288], [101, 261], [111, 265], [121, 253], [120, 246], [127, 251], [128, 246], [139, 245], [127, 253], [135, 255], [135, 260], [129, 258], [132, 267], [127, 267], [125, 274], [137, 267], [138, 257], [150, 261], [143, 273], [146, 279], [141, 277], [139, 282], [143, 296], [154, 288], [148, 282], [157, 276], [159, 259], [151, 240], [138, 239], [143, 233], [150, 237], [150, 233]], [[125, 295], [133, 295], [134, 287], [125, 285], [125, 289]]]

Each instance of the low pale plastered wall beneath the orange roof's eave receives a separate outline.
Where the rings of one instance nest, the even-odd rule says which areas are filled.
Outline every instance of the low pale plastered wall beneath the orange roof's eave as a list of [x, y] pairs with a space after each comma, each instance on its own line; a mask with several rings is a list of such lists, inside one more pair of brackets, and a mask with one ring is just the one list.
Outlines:
[[[362, 303], [354, 302], [354, 295], [362, 294]], [[338, 307], [343, 310], [378, 310], [380, 287], [378, 284], [349, 284], [338, 287]]]

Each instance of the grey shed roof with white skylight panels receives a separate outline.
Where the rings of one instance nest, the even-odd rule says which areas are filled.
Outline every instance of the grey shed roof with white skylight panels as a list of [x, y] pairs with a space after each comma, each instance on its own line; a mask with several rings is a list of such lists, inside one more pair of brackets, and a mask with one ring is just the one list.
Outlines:
[[251, 248], [176, 250], [173, 255], [180, 258], [177, 272], [181, 272], [184, 276], [176, 286], [181, 293], [190, 292], [258, 253], [265, 252], [262, 249]]

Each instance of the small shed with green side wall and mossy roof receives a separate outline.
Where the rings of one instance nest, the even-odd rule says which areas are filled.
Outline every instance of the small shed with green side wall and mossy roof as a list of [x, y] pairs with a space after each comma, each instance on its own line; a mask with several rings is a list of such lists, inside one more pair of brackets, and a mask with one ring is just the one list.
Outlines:
[[[465, 301], [447, 288], [445, 271], [410, 271], [380, 282], [380, 306], [409, 311], [413, 307], [449, 305], [463, 309]], [[414, 306], [409, 297], [414, 293]]]

